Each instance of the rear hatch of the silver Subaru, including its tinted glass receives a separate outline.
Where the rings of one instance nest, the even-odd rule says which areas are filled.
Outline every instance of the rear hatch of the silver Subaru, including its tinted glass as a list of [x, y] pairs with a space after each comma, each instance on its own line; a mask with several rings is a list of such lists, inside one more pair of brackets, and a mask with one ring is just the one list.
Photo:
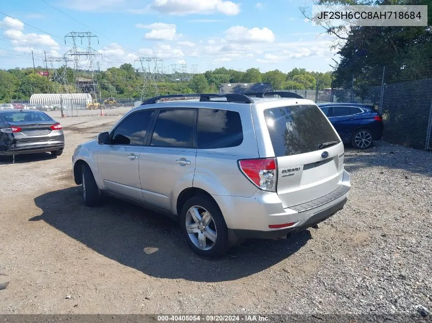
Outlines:
[[284, 208], [337, 189], [344, 145], [317, 106], [269, 108], [264, 117], [277, 158], [277, 193]]

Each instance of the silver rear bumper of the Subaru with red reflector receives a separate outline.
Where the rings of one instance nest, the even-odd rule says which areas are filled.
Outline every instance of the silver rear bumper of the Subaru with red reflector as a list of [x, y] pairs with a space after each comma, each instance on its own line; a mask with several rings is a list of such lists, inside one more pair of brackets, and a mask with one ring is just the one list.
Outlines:
[[[335, 190], [316, 200], [285, 208], [277, 193], [257, 190], [251, 197], [213, 195], [224, 216], [226, 226], [242, 238], [278, 238], [307, 229], [324, 221], [347, 203], [350, 175], [344, 170]], [[271, 225], [294, 223], [272, 229]]]

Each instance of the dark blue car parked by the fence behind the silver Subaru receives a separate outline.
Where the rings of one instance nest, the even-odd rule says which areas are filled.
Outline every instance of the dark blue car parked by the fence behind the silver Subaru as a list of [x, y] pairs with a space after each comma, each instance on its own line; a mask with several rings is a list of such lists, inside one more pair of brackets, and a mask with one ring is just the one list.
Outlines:
[[329, 118], [344, 143], [367, 149], [382, 138], [382, 115], [371, 106], [355, 103], [323, 103], [318, 105]]

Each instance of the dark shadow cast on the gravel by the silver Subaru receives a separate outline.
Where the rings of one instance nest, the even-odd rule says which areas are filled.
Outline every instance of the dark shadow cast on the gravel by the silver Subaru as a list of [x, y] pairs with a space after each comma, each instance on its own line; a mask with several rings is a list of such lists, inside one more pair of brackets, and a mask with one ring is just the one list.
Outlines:
[[159, 278], [236, 280], [279, 263], [311, 238], [304, 231], [286, 240], [249, 240], [221, 259], [207, 260], [189, 249], [174, 220], [114, 199], [87, 208], [79, 186], [49, 192], [34, 201], [42, 214], [30, 221], [43, 220], [97, 253]]

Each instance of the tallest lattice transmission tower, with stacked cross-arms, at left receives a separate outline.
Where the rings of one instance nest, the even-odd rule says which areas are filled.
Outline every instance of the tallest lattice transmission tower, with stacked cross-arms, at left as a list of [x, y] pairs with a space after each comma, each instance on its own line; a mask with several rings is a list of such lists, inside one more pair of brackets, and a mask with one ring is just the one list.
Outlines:
[[[90, 93], [94, 100], [100, 96], [100, 89], [96, 78], [95, 60], [102, 54], [92, 48], [92, 39], [98, 36], [91, 32], [71, 32], [64, 36], [64, 43], [71, 39], [72, 48], [64, 56], [70, 56], [74, 61], [74, 80], [77, 92]], [[81, 44], [80, 47], [78, 44]]]

